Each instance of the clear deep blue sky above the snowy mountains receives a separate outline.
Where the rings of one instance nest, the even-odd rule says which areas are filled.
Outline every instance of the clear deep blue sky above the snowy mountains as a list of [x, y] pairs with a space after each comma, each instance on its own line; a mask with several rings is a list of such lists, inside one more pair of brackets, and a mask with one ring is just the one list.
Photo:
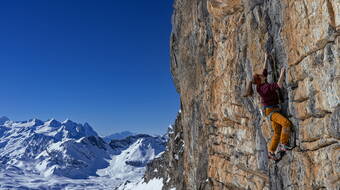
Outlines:
[[172, 0], [0, 1], [0, 115], [163, 134]]

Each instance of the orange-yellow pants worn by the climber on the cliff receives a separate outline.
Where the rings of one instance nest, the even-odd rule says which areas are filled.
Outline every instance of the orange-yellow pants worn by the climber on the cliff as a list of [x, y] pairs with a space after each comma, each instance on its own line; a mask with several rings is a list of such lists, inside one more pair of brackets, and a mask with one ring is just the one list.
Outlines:
[[[270, 114], [276, 108], [266, 108], [266, 116]], [[272, 114], [271, 117], [272, 128], [274, 129], [274, 135], [268, 147], [270, 152], [275, 152], [279, 142], [287, 145], [290, 135], [291, 122], [278, 112]]]

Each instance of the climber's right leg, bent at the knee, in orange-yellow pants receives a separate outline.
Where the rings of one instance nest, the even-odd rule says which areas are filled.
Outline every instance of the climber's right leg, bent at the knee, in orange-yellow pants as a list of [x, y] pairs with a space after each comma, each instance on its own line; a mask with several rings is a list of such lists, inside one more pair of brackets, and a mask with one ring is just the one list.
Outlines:
[[292, 123], [287, 118], [285, 118], [283, 115], [277, 112], [273, 113], [271, 119], [273, 122], [282, 126], [280, 141], [281, 141], [281, 144], [288, 145]]

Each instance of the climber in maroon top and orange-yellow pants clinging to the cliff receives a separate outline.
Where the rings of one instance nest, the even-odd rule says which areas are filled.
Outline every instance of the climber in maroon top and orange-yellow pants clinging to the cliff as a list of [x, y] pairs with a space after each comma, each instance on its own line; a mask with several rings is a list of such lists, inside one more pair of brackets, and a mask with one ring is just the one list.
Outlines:
[[252, 84], [255, 84], [256, 91], [261, 96], [264, 115], [271, 121], [274, 130], [274, 135], [268, 147], [268, 157], [273, 160], [279, 160], [275, 155], [277, 148], [279, 152], [286, 152], [291, 149], [291, 147], [288, 146], [288, 140], [292, 124], [280, 113], [279, 97], [276, 92], [277, 89], [283, 87], [285, 68], [281, 69], [278, 82], [268, 83], [266, 66], [267, 56], [265, 57], [262, 74], [255, 74], [253, 76], [253, 80], [247, 84], [244, 97], [253, 95]]

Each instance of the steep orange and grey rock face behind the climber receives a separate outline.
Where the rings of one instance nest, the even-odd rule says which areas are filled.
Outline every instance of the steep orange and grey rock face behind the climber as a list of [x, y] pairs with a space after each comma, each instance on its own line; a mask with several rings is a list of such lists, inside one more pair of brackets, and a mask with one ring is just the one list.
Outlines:
[[[181, 139], [170, 136], [155, 161], [168, 166], [158, 170], [164, 189], [340, 189], [339, 33], [338, 0], [175, 0]], [[286, 67], [282, 110], [294, 124], [295, 148], [278, 163], [267, 159], [258, 95], [241, 96], [265, 53], [269, 82]]]

